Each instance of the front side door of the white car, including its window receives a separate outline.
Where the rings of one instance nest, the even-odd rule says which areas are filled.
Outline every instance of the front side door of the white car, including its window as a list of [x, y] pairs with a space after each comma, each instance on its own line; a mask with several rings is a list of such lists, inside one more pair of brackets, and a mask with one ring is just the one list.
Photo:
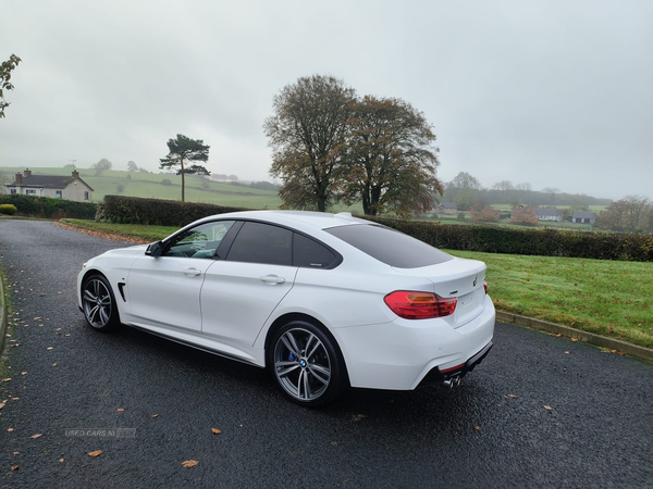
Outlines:
[[160, 256], [136, 260], [126, 287], [132, 323], [199, 334], [199, 293], [205, 274], [233, 224], [215, 221], [180, 231], [164, 243]]

